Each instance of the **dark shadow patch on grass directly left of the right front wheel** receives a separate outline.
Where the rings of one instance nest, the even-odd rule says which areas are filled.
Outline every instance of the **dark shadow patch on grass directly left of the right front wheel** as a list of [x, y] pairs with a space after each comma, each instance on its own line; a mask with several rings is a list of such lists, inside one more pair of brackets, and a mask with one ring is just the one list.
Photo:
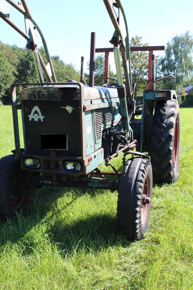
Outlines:
[[96, 252], [109, 247], [127, 247], [130, 244], [118, 233], [116, 218], [109, 213], [80, 217], [72, 224], [58, 220], [47, 234], [62, 256], [75, 251]]

